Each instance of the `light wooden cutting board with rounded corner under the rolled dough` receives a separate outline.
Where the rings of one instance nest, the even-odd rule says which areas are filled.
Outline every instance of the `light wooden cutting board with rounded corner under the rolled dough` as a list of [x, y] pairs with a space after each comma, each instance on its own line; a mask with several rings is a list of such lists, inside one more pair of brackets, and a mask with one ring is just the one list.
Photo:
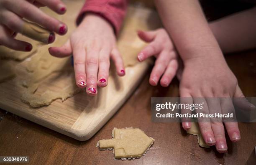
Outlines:
[[[75, 20], [84, 1], [69, 0], [66, 3], [68, 12], [64, 17]], [[145, 46], [136, 36], [136, 30], [155, 29], [159, 26], [160, 21], [155, 12], [141, 7], [129, 7], [124, 28], [118, 39], [120, 53], [125, 54], [126, 62], [136, 58], [138, 51]], [[68, 35], [72, 29], [74, 28], [69, 28]], [[85, 91], [82, 91], [64, 102], [57, 99], [49, 106], [32, 108], [20, 99], [26, 90], [20, 82], [26, 77], [29, 60], [30, 58], [22, 62], [11, 61], [17, 76], [0, 84], [0, 108], [81, 141], [92, 137], [115, 114], [136, 89], [150, 65], [143, 62], [129, 66], [125, 69], [124, 77], [118, 77], [115, 71], [112, 71], [108, 86], [99, 89], [95, 97], [87, 96]], [[69, 83], [74, 83], [73, 71], [56, 72], [41, 82], [36, 94], [42, 94], [47, 89], [59, 91]]]

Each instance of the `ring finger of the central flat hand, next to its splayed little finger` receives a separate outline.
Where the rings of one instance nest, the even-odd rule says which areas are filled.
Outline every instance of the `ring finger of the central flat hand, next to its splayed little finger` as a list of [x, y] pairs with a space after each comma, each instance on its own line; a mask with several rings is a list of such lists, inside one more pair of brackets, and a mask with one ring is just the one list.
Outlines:
[[108, 85], [108, 75], [110, 68], [110, 50], [102, 49], [99, 57], [99, 73], [97, 85], [105, 87]]

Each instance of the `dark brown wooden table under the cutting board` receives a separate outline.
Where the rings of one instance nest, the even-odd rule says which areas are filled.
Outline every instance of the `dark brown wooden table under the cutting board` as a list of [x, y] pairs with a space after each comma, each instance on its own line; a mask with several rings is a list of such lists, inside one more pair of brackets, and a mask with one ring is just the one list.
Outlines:
[[[256, 51], [226, 56], [247, 97], [256, 97]], [[228, 153], [198, 146], [180, 123], [151, 122], [151, 97], [179, 96], [177, 79], [168, 88], [141, 85], [95, 136], [79, 142], [65, 135], [0, 110], [0, 156], [29, 156], [30, 164], [245, 164], [256, 146], [256, 123], [239, 123], [241, 141], [228, 140]], [[112, 151], [100, 151], [98, 140], [111, 138], [113, 127], [139, 127], [155, 139], [145, 156], [136, 160], [113, 160]]]

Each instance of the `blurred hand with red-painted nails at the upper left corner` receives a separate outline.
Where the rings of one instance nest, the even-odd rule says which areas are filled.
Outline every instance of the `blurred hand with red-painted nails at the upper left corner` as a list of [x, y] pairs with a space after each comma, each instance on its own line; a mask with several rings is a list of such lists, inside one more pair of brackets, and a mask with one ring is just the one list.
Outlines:
[[30, 43], [15, 39], [17, 33], [23, 33], [25, 21], [22, 18], [49, 30], [48, 43], [55, 39], [53, 32], [67, 33], [67, 25], [45, 14], [39, 9], [41, 6], [59, 14], [64, 14], [67, 9], [61, 0], [0, 0], [0, 45], [17, 51], [32, 50]]

